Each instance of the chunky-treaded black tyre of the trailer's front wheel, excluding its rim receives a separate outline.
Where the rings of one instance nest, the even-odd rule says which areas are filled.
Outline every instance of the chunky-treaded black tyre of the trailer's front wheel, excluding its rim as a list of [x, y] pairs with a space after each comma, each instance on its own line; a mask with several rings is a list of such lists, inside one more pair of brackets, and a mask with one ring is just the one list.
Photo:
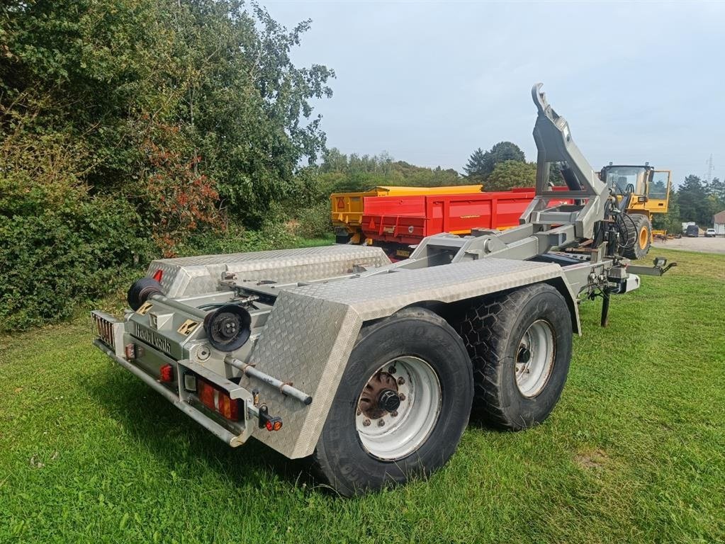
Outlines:
[[[537, 330], [549, 327], [552, 333], [553, 366], [538, 393], [526, 396], [516, 371], [534, 322], [543, 323]], [[571, 359], [571, 314], [558, 290], [538, 283], [484, 298], [471, 306], [458, 328], [473, 364], [473, 417], [510, 430], [543, 422], [559, 400]]]

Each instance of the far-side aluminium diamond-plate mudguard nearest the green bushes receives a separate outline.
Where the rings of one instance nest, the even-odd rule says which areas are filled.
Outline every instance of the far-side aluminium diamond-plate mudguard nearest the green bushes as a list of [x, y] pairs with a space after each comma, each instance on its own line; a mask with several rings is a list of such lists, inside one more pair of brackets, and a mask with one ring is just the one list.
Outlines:
[[355, 264], [380, 267], [390, 264], [390, 259], [381, 248], [337, 245], [157, 259], [149, 264], [146, 275], [162, 270], [162, 288], [174, 298], [219, 290], [218, 280], [223, 272], [236, 273], [240, 281], [286, 283], [344, 275]]

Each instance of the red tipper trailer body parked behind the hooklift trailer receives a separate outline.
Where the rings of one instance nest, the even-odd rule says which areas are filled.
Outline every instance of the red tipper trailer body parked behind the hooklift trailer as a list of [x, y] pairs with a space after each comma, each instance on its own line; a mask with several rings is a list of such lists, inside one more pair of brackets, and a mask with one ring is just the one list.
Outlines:
[[419, 243], [439, 233], [470, 234], [473, 228], [502, 229], [534, 198], [534, 188], [427, 196], [365, 197], [363, 233], [377, 242]]

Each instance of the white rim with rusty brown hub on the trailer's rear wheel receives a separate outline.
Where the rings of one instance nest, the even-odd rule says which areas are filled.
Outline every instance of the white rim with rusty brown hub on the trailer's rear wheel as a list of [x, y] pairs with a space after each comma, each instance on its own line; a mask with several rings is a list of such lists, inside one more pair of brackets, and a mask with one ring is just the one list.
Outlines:
[[[376, 390], [379, 384], [383, 384], [382, 390]], [[378, 400], [384, 390], [394, 390], [399, 398], [397, 409], [381, 408]], [[363, 448], [384, 461], [409, 456], [435, 427], [441, 399], [438, 376], [426, 361], [405, 356], [387, 362], [370, 377], [355, 407], [355, 427]]]

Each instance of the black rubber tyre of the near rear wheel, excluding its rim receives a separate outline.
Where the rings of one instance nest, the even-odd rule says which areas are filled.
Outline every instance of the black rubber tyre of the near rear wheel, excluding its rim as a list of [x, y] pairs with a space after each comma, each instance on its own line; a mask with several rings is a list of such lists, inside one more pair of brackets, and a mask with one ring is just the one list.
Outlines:
[[[405, 356], [426, 361], [434, 371], [440, 385], [438, 415], [415, 451], [398, 459], [378, 459], [365, 448], [356, 427], [361, 393], [378, 369]], [[472, 398], [471, 361], [463, 340], [444, 319], [426, 309], [407, 308], [367, 325], [357, 338], [312, 455], [313, 471], [345, 496], [430, 474], [455, 451], [468, 424]], [[373, 419], [373, 429], [375, 424]]]

